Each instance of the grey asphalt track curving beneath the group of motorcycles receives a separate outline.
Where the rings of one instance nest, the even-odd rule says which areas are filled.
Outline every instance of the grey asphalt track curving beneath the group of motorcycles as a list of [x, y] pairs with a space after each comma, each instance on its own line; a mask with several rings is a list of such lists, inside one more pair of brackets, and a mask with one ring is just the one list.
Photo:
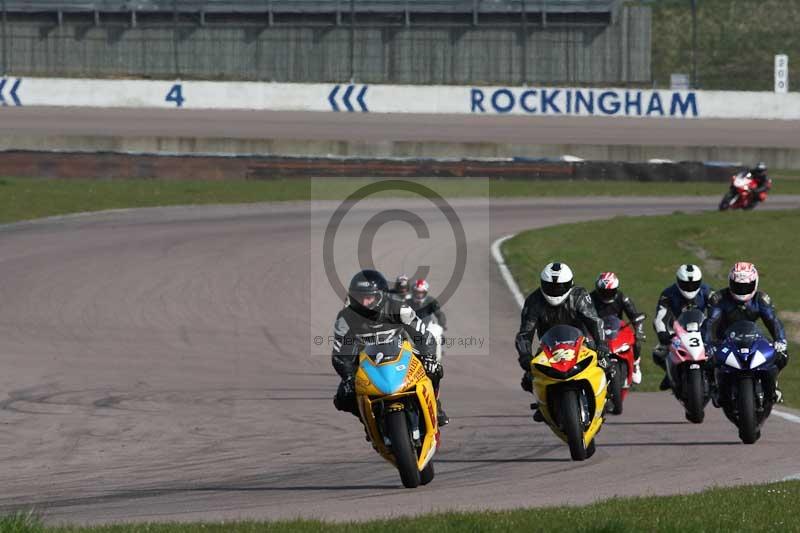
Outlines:
[[[338, 204], [146, 209], [1, 227], [0, 511], [35, 506], [51, 522], [81, 523], [347, 520], [798, 474], [800, 424], [772, 416], [746, 446], [718, 411], [689, 424], [666, 393], [629, 397], [596, 455], [573, 463], [531, 420], [518, 385], [519, 309], [490, 258], [494, 239], [618, 214], [713, 209], [717, 200], [452, 201], [467, 258], [446, 304], [448, 335], [464, 342], [446, 354], [453, 422], [437, 476], [417, 490], [402, 489], [360, 424], [331, 404], [338, 378], [322, 339], [341, 301], [326, 281], [321, 235]], [[764, 207], [798, 206], [800, 197], [772, 196]], [[386, 210], [416, 214], [429, 238], [386, 223], [372, 248], [378, 267], [430, 265], [441, 288], [457, 245], [424, 200], [353, 207], [334, 247], [341, 277], [355, 269], [366, 222]]]

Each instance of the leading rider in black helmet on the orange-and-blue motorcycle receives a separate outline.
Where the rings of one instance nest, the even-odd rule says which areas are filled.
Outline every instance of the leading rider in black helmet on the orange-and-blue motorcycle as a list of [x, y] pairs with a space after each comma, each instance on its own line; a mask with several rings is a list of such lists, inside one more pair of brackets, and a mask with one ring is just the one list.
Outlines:
[[436, 359], [436, 340], [427, 331], [423, 321], [408, 304], [389, 298], [386, 278], [376, 270], [358, 272], [350, 281], [347, 292], [347, 305], [339, 311], [333, 327], [331, 362], [342, 378], [333, 399], [336, 409], [358, 416], [355, 374], [361, 348], [365, 344], [382, 342], [380, 339], [403, 330], [433, 382], [439, 425], [446, 425], [449, 419], [438, 398], [444, 369]]

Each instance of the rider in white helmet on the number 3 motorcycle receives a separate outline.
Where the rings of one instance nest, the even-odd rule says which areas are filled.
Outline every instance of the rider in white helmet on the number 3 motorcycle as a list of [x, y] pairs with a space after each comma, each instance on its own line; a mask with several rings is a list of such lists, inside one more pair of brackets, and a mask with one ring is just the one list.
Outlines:
[[658, 336], [658, 345], [653, 349], [653, 362], [664, 370], [660, 390], [670, 388], [667, 377], [667, 352], [672, 340], [672, 323], [689, 309], [699, 309], [707, 314], [708, 300], [714, 291], [703, 283], [703, 271], [697, 265], [685, 264], [675, 272], [675, 283], [661, 292], [653, 318], [653, 328]]

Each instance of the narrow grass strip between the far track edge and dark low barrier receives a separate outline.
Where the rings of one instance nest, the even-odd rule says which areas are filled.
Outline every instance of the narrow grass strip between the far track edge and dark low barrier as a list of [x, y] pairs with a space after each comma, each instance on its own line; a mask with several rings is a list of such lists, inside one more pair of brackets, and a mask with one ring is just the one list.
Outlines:
[[[272, 181], [39, 180], [0, 179], [0, 222], [80, 211], [187, 204], [227, 204], [342, 199], [372, 180], [298, 179]], [[675, 196], [719, 195], [721, 183], [608, 181], [413, 180], [442, 196]], [[800, 180], [780, 181], [776, 194], [800, 194]], [[391, 193], [387, 193], [389, 195]], [[394, 193], [401, 196], [401, 193]]]

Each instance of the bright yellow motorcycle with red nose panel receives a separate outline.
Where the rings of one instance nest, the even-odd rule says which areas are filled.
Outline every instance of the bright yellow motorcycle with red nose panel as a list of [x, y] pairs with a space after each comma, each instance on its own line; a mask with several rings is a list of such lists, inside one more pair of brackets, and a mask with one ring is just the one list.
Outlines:
[[575, 461], [591, 457], [603, 425], [608, 383], [597, 352], [572, 326], [551, 328], [531, 362], [538, 409]]

